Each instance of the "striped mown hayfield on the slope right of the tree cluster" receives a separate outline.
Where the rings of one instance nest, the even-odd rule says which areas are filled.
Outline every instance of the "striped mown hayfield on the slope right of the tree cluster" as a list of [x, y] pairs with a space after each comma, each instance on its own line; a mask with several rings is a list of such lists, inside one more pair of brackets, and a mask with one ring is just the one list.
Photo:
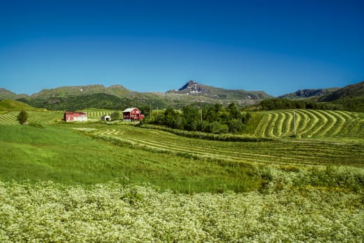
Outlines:
[[364, 138], [364, 114], [333, 110], [273, 110], [264, 112], [255, 128], [258, 137], [303, 138], [361, 137]]

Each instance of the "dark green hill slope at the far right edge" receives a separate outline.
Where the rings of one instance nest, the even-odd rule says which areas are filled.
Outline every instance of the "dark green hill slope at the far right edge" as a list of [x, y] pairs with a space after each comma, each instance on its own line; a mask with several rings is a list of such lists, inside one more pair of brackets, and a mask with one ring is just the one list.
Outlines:
[[349, 111], [364, 112], [364, 81], [342, 87], [320, 97], [318, 101], [336, 103]]

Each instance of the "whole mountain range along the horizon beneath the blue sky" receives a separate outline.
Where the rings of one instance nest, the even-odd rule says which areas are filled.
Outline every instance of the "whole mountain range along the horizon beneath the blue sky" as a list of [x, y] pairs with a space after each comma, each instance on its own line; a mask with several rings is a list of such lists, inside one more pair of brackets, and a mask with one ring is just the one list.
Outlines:
[[[235, 102], [244, 107], [274, 97], [263, 91], [227, 90], [189, 81], [177, 90], [167, 92], [135, 92], [122, 85], [64, 86], [41, 90], [38, 93], [15, 94], [0, 89], [0, 100], [13, 99], [36, 108], [49, 110], [80, 110], [84, 108], [109, 108], [122, 110], [130, 106], [154, 108], [181, 108], [186, 105], [204, 106]], [[297, 90], [284, 94], [279, 99], [310, 99], [317, 102], [342, 104], [347, 110], [364, 111], [364, 81], [346, 87], [317, 90]]]

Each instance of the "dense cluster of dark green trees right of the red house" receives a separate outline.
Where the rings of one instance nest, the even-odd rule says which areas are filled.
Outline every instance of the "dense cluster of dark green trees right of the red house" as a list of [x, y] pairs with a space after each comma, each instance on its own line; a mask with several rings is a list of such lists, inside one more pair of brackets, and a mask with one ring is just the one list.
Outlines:
[[143, 122], [187, 131], [239, 133], [249, 117], [250, 114], [240, 112], [235, 103], [230, 103], [227, 108], [216, 103], [204, 108], [184, 106], [178, 111], [167, 108], [156, 117], [148, 117]]

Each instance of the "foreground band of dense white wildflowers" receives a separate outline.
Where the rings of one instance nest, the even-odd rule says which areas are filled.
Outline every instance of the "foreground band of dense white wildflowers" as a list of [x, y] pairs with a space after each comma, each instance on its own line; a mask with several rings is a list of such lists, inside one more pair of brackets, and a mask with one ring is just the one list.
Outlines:
[[363, 242], [364, 193], [0, 183], [0, 242]]

